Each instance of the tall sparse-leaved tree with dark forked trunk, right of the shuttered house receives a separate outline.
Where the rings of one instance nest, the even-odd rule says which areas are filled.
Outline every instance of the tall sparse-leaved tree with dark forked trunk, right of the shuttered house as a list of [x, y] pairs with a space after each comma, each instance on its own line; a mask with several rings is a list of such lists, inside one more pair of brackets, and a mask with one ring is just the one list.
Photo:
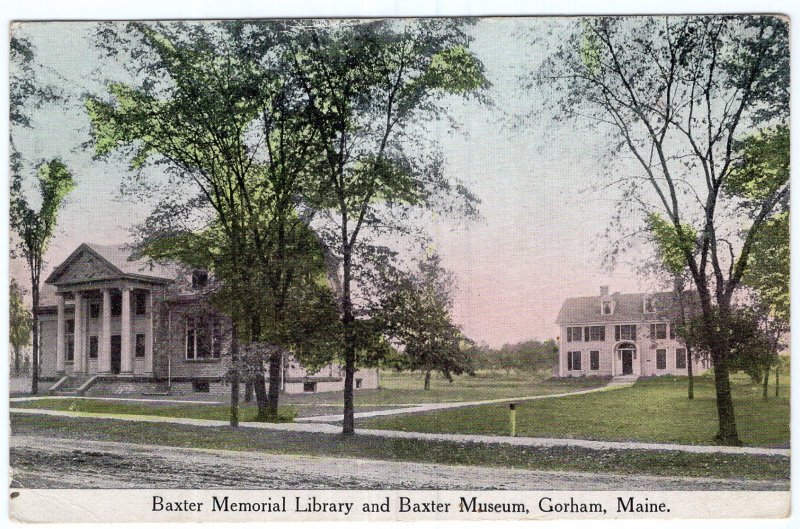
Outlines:
[[675, 230], [704, 327], [716, 333], [717, 439], [740, 444], [729, 380], [732, 300], [755, 239], [788, 200], [789, 182], [774, 174], [747, 200], [728, 189], [737, 140], [788, 116], [787, 22], [623, 17], [583, 19], [573, 29], [536, 81], [565, 114], [613, 134], [612, 155], [632, 156], [641, 177], [626, 179], [624, 211], [645, 219], [659, 212]]

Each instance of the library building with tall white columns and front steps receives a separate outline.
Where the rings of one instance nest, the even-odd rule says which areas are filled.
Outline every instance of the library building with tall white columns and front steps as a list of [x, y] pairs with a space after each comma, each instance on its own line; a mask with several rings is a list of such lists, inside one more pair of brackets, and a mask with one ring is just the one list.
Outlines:
[[[45, 280], [40, 301], [41, 376], [77, 394], [227, 391], [227, 318], [205, 302], [203, 271], [152, 265], [124, 246], [81, 244]], [[286, 393], [338, 391], [344, 370], [310, 372], [286, 355]], [[375, 369], [356, 388], [377, 388]]]

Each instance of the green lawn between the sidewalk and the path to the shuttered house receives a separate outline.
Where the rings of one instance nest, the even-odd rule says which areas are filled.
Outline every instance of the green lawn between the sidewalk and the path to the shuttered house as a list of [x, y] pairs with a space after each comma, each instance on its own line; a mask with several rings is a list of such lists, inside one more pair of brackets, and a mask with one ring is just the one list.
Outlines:
[[[739, 436], [746, 445], [789, 445], [788, 377], [781, 395], [763, 400], [761, 386], [732, 377]], [[695, 380], [695, 398], [686, 398], [685, 377], [658, 377], [633, 387], [517, 405], [517, 435], [614, 441], [714, 444], [717, 432], [714, 381]], [[496, 404], [425, 414], [367, 419], [362, 428], [472, 434], [507, 434], [508, 405]]]

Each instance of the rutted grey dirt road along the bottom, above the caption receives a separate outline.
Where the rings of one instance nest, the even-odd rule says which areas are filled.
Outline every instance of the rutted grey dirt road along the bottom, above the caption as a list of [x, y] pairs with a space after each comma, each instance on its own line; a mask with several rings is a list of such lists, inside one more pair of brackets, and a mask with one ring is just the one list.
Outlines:
[[21, 488], [787, 490], [786, 480], [617, 476], [287, 456], [14, 435]]

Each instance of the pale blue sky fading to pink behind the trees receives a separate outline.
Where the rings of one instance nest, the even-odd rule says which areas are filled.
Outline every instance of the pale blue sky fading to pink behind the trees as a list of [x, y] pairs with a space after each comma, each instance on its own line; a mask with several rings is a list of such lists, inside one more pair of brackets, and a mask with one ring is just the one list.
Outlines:
[[[548, 119], [543, 94], [521, 87], [519, 75], [534, 71], [552, 51], [550, 40], [533, 42], [543, 19], [482, 19], [472, 29], [472, 51], [484, 63], [492, 83], [494, 106], [453, 102], [450, 115], [459, 124], [425, 124], [441, 145], [450, 176], [464, 181], [479, 197], [480, 219], [455, 222], [432, 218], [430, 230], [443, 264], [453, 271], [458, 289], [454, 319], [470, 338], [499, 347], [505, 343], [555, 338], [556, 315], [563, 300], [611, 291], [652, 288], [652, 278], [637, 275], [634, 251], [613, 270], [603, 266], [610, 241], [606, 229], [620, 190], [598, 191], [607, 138], [580, 124]], [[552, 23], [552, 19], [547, 22]], [[103, 78], [124, 78], [121, 65], [101, 59], [91, 43], [87, 22], [28, 23], [13, 28], [36, 48], [42, 79], [75, 93], [102, 93]], [[530, 111], [535, 118], [522, 118]], [[76, 98], [44, 106], [33, 126], [20, 131], [18, 148], [27, 159], [60, 156], [73, 170], [76, 190], [59, 217], [47, 253], [43, 277], [82, 242], [133, 242], [129, 229], [148, 213], [126, 202], [120, 189], [128, 167], [124, 159], [93, 160], [83, 147], [88, 117]], [[625, 166], [625, 163], [620, 165]], [[13, 260], [10, 273], [27, 284], [24, 263]]]

